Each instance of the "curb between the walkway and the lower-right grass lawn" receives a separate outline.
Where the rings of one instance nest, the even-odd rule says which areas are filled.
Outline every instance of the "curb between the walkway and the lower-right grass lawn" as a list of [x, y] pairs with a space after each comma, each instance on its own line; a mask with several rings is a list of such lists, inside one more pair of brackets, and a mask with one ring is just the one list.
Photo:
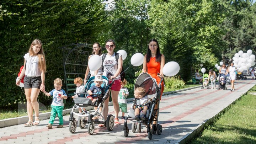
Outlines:
[[243, 95], [247, 94], [248, 91], [246, 91], [244, 94], [241, 94], [235, 101], [231, 102], [228, 106], [226, 106], [223, 110], [221, 110], [215, 116], [206, 119], [204, 121], [204, 123], [201, 123], [196, 128], [192, 129], [190, 133], [184, 135], [175, 144], [186, 144], [186, 143], [190, 142], [193, 138], [195, 138], [197, 135], [199, 135], [204, 130], [204, 127], [206, 125], [212, 124], [214, 122], [215, 118], [218, 118], [225, 110], [227, 110], [230, 106], [232, 106], [234, 103], [236, 103]]

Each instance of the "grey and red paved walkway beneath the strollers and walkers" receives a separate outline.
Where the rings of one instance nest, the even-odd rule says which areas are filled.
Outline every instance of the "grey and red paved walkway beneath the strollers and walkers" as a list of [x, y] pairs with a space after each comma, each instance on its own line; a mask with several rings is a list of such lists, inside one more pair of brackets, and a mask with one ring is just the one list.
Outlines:
[[[123, 135], [123, 122], [115, 126], [113, 131], [106, 128], [96, 128], [93, 135], [77, 126], [76, 132], [69, 132], [69, 115], [63, 117], [64, 127], [57, 128], [58, 118], [52, 129], [46, 127], [48, 120], [40, 122], [38, 127], [23, 127], [23, 124], [0, 128], [0, 143], [18, 144], [94, 144], [94, 143], [185, 143], [191, 134], [202, 129], [204, 123], [214, 117], [225, 107], [238, 99], [256, 84], [256, 80], [237, 80], [235, 91], [217, 89], [192, 89], [162, 96], [160, 103], [159, 123], [162, 125], [162, 134], [153, 135], [148, 139], [146, 127], [142, 126], [142, 133], [131, 131], [131, 121], [128, 121], [129, 135]], [[128, 109], [131, 103], [128, 104]], [[110, 106], [109, 113], [113, 112]], [[119, 114], [120, 115], [120, 114]], [[76, 119], [78, 119], [75, 116]]]

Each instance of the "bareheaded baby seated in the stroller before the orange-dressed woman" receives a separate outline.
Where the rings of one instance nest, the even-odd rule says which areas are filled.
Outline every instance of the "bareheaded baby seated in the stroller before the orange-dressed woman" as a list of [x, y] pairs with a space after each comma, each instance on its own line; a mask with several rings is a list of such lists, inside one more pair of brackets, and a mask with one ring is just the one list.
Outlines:
[[[148, 111], [148, 106], [149, 104], [146, 104], [147, 102], [149, 102], [149, 97], [145, 96], [146, 91], [143, 87], [137, 87], [134, 90], [134, 97], [137, 98], [137, 103], [136, 105], [134, 105], [134, 109], [135, 109], [135, 117], [134, 119], [136, 121], [140, 121], [140, 120], [145, 120], [146, 119], [146, 112]], [[146, 104], [146, 105], [144, 105]], [[140, 113], [143, 113], [142, 116], [140, 117]]]

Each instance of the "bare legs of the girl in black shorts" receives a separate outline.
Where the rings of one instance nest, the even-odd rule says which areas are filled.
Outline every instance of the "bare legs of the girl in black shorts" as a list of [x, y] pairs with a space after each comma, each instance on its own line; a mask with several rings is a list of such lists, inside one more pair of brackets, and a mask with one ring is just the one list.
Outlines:
[[[40, 90], [37, 88], [25, 89], [25, 95], [27, 99], [27, 113], [28, 120], [33, 121], [33, 110], [36, 117], [39, 117], [39, 104], [37, 102], [37, 97]], [[35, 118], [35, 121], [39, 121], [39, 118]]]

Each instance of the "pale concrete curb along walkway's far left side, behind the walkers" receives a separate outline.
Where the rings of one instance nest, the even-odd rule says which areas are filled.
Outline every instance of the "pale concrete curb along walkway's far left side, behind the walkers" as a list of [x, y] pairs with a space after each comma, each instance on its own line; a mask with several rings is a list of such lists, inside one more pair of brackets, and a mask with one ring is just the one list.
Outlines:
[[[169, 95], [169, 94], [174, 94], [174, 93], [181, 92], [181, 91], [196, 89], [198, 87], [202, 87], [202, 85], [201, 86], [190, 87], [190, 88], [187, 88], [187, 89], [181, 89], [181, 90], [177, 90], [177, 91], [164, 92], [163, 95]], [[127, 102], [132, 102], [133, 98], [127, 98], [126, 101]], [[113, 106], [113, 103], [109, 102], [108, 106]], [[93, 109], [93, 107], [86, 107], [86, 110], [92, 110], [92, 109]], [[71, 112], [71, 110], [72, 110], [72, 108], [63, 110], [63, 115], [69, 114]], [[78, 112], [78, 108], [75, 108], [75, 112]], [[39, 113], [39, 117], [40, 117], [41, 120], [49, 119], [50, 118], [50, 113], [51, 112]], [[35, 119], [35, 115], [33, 115], [33, 119]], [[2, 120], [0, 120], [0, 128], [8, 127], [8, 126], [14, 126], [14, 125], [17, 125], [17, 124], [24, 124], [27, 121], [28, 121], [28, 116], [2, 119]]]

